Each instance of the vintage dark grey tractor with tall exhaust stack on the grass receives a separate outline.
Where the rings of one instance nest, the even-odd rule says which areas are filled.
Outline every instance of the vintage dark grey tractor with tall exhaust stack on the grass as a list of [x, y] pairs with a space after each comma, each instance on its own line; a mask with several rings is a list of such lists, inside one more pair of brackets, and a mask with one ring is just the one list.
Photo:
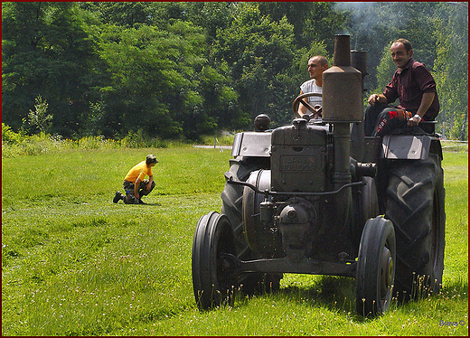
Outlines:
[[[350, 51], [348, 35], [336, 35], [323, 119], [269, 130], [260, 115], [257, 131], [235, 136], [221, 213], [202, 216], [194, 232], [200, 309], [231, 304], [240, 289], [277, 290], [284, 273], [355, 277], [361, 315], [385, 312], [393, 295], [438, 293], [445, 245], [439, 138], [433, 125], [423, 127], [431, 133], [420, 125], [364, 136], [366, 55]], [[309, 95], [318, 94], [296, 98], [295, 111]]]

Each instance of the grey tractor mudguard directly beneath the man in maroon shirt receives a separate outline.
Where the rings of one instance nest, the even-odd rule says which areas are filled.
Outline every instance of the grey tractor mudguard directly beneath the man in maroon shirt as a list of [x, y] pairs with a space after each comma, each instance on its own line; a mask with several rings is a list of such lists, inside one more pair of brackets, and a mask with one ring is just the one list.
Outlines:
[[426, 160], [431, 146], [430, 136], [387, 135], [382, 139], [382, 158]]

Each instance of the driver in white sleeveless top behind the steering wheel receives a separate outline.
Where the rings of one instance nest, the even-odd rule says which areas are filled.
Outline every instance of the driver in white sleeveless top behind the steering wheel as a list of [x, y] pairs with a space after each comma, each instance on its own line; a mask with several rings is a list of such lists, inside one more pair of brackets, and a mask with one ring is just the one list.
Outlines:
[[[310, 74], [310, 80], [305, 81], [300, 86], [300, 94], [306, 93], [319, 93], [322, 94], [323, 86], [323, 72], [328, 69], [328, 61], [322, 55], [315, 55], [308, 60], [308, 73]], [[322, 106], [322, 98], [320, 97], [309, 97], [304, 99], [310, 106], [315, 107], [316, 105]], [[302, 117], [305, 113], [310, 113], [307, 108], [300, 104], [298, 105], [297, 117]], [[318, 118], [318, 116], [315, 116]]]

